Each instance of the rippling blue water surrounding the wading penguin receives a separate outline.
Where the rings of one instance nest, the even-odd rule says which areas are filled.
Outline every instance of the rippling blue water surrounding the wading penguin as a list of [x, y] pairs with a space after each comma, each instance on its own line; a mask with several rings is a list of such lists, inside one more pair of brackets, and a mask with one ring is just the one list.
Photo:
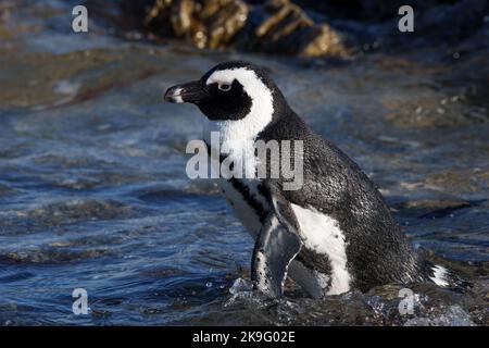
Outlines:
[[[0, 324], [487, 323], [489, 123], [461, 116], [487, 110], [442, 102], [467, 82], [387, 55], [310, 66], [103, 27], [75, 36], [61, 24], [65, 3], [51, 7], [14, 8], [18, 22], [2, 24], [12, 37], [0, 44]], [[408, 322], [386, 288], [323, 302], [292, 289], [269, 309], [233, 286], [248, 276], [253, 240], [214, 183], [187, 178], [185, 146], [202, 116], [162, 95], [237, 58], [268, 66], [299, 114], [379, 185], [413, 244], [465, 270], [473, 294], [449, 301], [422, 287], [424, 310]], [[405, 121], [419, 105], [461, 122]], [[88, 293], [87, 315], [72, 312], [75, 288]]]

